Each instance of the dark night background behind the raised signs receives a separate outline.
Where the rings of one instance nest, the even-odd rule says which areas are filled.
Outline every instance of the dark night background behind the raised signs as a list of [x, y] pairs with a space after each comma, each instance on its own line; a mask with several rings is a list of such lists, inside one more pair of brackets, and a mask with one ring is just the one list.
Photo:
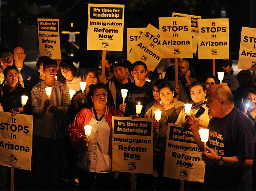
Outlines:
[[[27, 55], [25, 61], [34, 62], [39, 57], [37, 18], [59, 18], [60, 32], [80, 32], [75, 42], [80, 49], [68, 42], [68, 34], [60, 33], [61, 50], [69, 55], [73, 53], [71, 58], [74, 62], [80, 61], [82, 68], [97, 67], [101, 51], [86, 50], [88, 3], [125, 4], [123, 51], [107, 51], [107, 54], [122, 59], [127, 58], [127, 28], [146, 27], [148, 23], [159, 28], [158, 17], [171, 17], [172, 12], [202, 18], [229, 18], [229, 50], [233, 60], [238, 60], [241, 27], [256, 28], [255, 0], [2, 0], [0, 48], [21, 46]], [[197, 57], [188, 60], [197, 76], [212, 73], [212, 60], [198, 60]]]

